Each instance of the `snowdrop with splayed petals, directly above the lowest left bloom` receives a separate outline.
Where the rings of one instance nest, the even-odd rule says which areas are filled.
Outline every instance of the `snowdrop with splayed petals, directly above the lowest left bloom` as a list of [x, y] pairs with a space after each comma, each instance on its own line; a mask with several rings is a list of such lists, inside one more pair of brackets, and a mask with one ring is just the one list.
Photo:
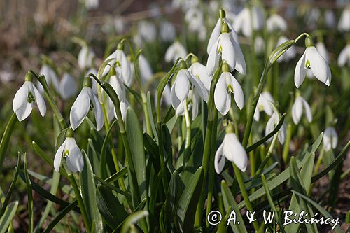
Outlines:
[[87, 113], [90, 111], [90, 108], [92, 108], [94, 111], [94, 118], [97, 122], [97, 130], [101, 130], [104, 126], [104, 113], [102, 112], [102, 106], [91, 87], [91, 78], [85, 78], [84, 87], [76, 98], [76, 101], [74, 101], [73, 106], [71, 106], [69, 119], [73, 130], [78, 128], [83, 122]]

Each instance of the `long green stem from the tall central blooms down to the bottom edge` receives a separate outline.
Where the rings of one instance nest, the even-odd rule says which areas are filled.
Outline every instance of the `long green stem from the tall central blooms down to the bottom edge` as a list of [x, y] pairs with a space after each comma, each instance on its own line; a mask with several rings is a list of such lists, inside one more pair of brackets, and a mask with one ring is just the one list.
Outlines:
[[[211, 147], [213, 147], [211, 143], [212, 132], [214, 132], [213, 129], [216, 130], [216, 127], [217, 127], [216, 122], [218, 118], [218, 110], [216, 109], [214, 104], [214, 90], [216, 87], [216, 83], [218, 82], [218, 78], [220, 77], [220, 74], [221, 74], [222, 64], [223, 62], [220, 62], [220, 65], [218, 66], [218, 68], [214, 73], [213, 80], [211, 80], [211, 87], [210, 87], [209, 98], [208, 98], [208, 122], [207, 122], [207, 131], [204, 139], [204, 152], [203, 152], [203, 160], [202, 160], [204, 176], [203, 176], [203, 185], [202, 185], [201, 195], [200, 195], [200, 199], [198, 201], [197, 210], [196, 210], [195, 228], [199, 228], [201, 226], [201, 221], [202, 221], [204, 197], [206, 195], [205, 192], [207, 190], [207, 176], [208, 176], [208, 170], [209, 170]], [[215, 146], [214, 146], [214, 149], [215, 149]]]

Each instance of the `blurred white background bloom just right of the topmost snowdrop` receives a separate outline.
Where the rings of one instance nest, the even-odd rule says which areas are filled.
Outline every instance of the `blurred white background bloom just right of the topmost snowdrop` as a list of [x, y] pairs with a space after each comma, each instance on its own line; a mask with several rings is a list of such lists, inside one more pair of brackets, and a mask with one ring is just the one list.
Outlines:
[[251, 10], [244, 8], [238, 13], [235, 24], [235, 30], [241, 31], [246, 37], [251, 37], [253, 31], [262, 29], [265, 25], [265, 17], [262, 9], [258, 6], [253, 6]]

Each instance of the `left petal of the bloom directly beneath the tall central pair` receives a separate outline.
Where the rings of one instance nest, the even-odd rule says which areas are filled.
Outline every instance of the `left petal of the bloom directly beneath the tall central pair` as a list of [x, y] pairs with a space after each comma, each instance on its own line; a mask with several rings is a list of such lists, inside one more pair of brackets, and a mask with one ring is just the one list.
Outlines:
[[215, 106], [222, 115], [226, 115], [231, 106], [231, 94], [227, 91], [225, 76], [228, 76], [228, 72], [221, 74], [214, 91]]

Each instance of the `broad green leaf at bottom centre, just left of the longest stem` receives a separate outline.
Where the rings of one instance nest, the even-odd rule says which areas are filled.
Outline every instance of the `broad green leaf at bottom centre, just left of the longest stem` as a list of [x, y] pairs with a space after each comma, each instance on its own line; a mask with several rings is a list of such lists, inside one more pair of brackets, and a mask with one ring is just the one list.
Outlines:
[[[176, 213], [180, 221], [180, 230], [191, 231], [186, 227], [193, 227], [195, 222], [195, 212], [197, 209], [198, 197], [200, 197], [200, 191], [202, 190], [203, 183], [203, 169], [200, 167], [191, 178], [183, 181], [186, 188], [179, 199], [179, 204], [176, 209]], [[186, 230], [185, 230], [186, 229]]]

